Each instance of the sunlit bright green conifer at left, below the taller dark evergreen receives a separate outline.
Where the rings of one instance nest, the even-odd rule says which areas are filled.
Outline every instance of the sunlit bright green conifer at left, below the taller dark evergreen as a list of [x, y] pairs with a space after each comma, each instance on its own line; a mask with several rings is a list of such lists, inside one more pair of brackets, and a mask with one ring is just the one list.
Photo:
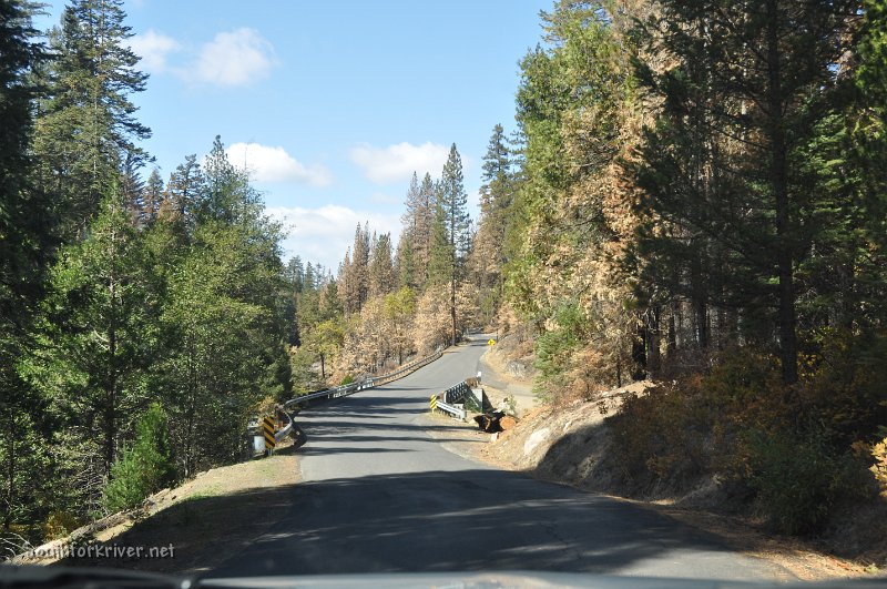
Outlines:
[[86, 240], [65, 248], [53, 270], [51, 323], [33, 369], [60, 418], [54, 458], [61, 474], [80, 481], [67, 498], [80, 509], [98, 501], [126, 419], [142, 407], [157, 314], [123, 199], [109, 196], [102, 207]]

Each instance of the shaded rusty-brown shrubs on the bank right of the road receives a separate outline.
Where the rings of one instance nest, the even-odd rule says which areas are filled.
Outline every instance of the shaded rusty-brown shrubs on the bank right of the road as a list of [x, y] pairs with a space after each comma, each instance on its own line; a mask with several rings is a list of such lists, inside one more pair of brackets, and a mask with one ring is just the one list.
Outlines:
[[885, 342], [824, 331], [805, 342], [792, 387], [772, 356], [725, 351], [707, 374], [626, 399], [610, 420], [626, 490], [684, 490], [716, 475], [788, 534], [815, 531], [838, 504], [874, 497], [875, 480], [887, 494], [885, 431], [870, 444], [887, 420]]

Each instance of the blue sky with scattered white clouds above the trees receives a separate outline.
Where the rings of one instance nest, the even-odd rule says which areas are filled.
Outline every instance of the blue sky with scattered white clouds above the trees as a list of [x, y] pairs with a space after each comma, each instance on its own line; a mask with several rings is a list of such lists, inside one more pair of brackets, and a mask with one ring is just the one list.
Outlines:
[[144, 146], [165, 180], [221, 135], [285, 220], [287, 255], [335, 268], [358, 222], [397, 240], [409, 176], [438, 176], [453, 142], [477, 214], [492, 126], [514, 128], [518, 61], [551, 6], [129, 0], [151, 74], [134, 97], [153, 131]]

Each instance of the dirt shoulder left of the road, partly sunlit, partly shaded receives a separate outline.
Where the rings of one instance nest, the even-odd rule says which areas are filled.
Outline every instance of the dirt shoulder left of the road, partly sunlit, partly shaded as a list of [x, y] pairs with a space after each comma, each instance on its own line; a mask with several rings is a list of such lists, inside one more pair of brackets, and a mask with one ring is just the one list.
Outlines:
[[[297, 458], [286, 441], [273, 457], [201, 473], [149, 497], [142, 509], [109, 516], [13, 562], [200, 573], [262, 536], [289, 506], [297, 481]], [[64, 550], [86, 546], [133, 550], [123, 557], [60, 558]]]

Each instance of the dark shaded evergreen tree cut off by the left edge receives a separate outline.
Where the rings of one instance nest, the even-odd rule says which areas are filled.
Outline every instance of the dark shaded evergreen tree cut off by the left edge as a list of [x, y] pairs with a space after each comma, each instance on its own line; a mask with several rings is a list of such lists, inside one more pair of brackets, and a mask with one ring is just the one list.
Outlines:
[[45, 59], [31, 22], [35, 7], [0, 1], [0, 540], [48, 507], [44, 400], [17, 365], [30, 354], [35, 305], [54, 247], [54, 215], [28, 179], [32, 162], [32, 73]]

